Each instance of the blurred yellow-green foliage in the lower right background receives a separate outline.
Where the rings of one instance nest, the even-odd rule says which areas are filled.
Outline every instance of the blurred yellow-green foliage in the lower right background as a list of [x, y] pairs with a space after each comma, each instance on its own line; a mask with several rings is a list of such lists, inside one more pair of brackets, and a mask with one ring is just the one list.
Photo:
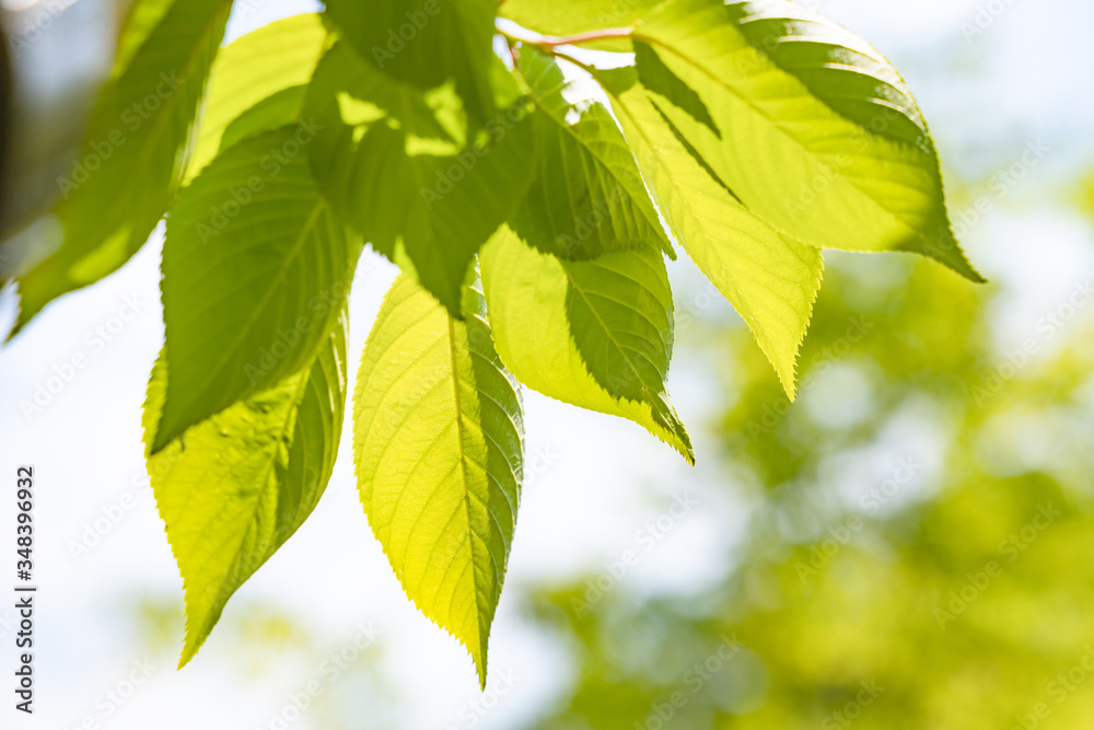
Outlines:
[[1083, 281], [1001, 346], [998, 288], [826, 258], [794, 406], [747, 331], [725, 338], [725, 488], [753, 513], [724, 579], [698, 598], [536, 596], [580, 665], [538, 727], [1090, 727]]

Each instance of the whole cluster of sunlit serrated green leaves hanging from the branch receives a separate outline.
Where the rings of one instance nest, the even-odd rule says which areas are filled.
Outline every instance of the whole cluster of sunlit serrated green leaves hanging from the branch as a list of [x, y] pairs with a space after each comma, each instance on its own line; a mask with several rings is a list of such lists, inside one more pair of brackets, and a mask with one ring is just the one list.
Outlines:
[[[61, 181], [63, 241], [5, 274], [18, 332], [166, 215], [143, 422], [184, 663], [330, 476], [364, 243], [403, 274], [357, 376], [361, 499], [407, 594], [484, 683], [521, 385], [694, 460], [665, 389], [675, 246], [790, 397], [822, 247], [919, 253], [979, 280], [900, 77], [791, 2], [328, 0], [220, 48], [231, 4], [137, 0], [78, 163], [94, 172]], [[574, 101], [575, 80], [594, 101]]]

